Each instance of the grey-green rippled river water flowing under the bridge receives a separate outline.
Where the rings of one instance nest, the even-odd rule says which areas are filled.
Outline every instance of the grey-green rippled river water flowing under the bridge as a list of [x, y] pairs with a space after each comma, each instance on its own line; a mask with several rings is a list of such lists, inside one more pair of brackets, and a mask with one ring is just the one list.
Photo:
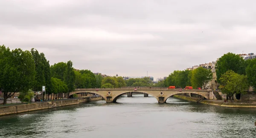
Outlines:
[[256, 109], [121, 96], [0, 117], [0, 138], [256, 138]]

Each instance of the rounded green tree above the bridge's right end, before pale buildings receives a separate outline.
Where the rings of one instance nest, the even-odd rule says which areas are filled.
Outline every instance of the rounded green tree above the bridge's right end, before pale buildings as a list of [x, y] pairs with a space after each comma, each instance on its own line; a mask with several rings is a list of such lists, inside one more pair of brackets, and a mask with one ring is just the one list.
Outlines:
[[192, 87], [205, 87], [212, 80], [212, 71], [206, 68], [196, 68], [192, 71], [191, 83]]

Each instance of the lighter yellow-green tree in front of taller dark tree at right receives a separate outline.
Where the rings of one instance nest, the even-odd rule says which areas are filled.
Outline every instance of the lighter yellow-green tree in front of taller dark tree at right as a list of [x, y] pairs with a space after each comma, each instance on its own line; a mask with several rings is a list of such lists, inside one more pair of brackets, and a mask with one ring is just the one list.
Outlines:
[[231, 97], [235, 93], [247, 93], [248, 87], [247, 76], [235, 73], [233, 70], [228, 70], [226, 73], [221, 75], [220, 78], [220, 89], [221, 92], [227, 94], [228, 98], [232, 101]]

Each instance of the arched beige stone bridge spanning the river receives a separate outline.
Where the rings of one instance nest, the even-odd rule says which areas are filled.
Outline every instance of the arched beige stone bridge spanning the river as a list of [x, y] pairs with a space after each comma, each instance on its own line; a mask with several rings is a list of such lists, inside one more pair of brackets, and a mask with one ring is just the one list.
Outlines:
[[179, 93], [194, 93], [201, 96], [204, 96], [206, 99], [213, 99], [212, 96], [213, 92], [212, 90], [182, 90], [179, 89], [156, 89], [156, 88], [102, 88], [102, 89], [76, 89], [74, 92], [71, 92], [69, 96], [75, 94], [75, 93], [95, 93], [100, 96], [102, 96], [106, 102], [116, 102], [116, 99], [118, 99], [120, 96], [122, 96], [125, 93], [131, 93], [131, 92], [140, 92], [140, 93], [147, 93], [151, 96], [154, 96], [159, 103], [165, 103], [166, 99], [168, 99], [170, 96], [173, 96], [175, 94]]

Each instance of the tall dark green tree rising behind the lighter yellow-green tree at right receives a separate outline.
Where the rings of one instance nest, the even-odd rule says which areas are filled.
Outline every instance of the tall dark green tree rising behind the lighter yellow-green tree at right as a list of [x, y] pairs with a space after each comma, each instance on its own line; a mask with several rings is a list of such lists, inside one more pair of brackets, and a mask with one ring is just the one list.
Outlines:
[[233, 70], [235, 73], [244, 74], [246, 64], [244, 59], [237, 54], [227, 53], [221, 56], [216, 63], [216, 75], [217, 81], [220, 82], [221, 75], [226, 73], [228, 70]]

